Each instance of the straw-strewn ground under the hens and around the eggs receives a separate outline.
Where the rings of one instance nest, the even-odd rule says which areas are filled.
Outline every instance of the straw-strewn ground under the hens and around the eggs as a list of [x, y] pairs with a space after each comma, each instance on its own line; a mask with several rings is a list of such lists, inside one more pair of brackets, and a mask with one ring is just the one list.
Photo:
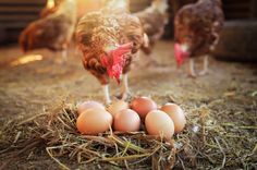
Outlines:
[[[63, 66], [53, 62], [58, 54], [46, 53], [40, 62], [0, 68], [0, 169], [256, 169], [256, 64], [212, 59], [210, 74], [193, 80], [176, 70], [172, 46], [160, 41], [154, 52], [167, 71], [130, 75], [133, 96], [150, 95], [159, 105], [174, 101], [186, 111], [185, 130], [170, 143], [144, 132], [77, 133], [74, 102], [102, 101], [98, 82], [79, 58]], [[16, 47], [0, 51], [0, 63], [20, 56]], [[200, 70], [200, 59], [197, 65]], [[112, 97], [119, 95], [111, 86]]]

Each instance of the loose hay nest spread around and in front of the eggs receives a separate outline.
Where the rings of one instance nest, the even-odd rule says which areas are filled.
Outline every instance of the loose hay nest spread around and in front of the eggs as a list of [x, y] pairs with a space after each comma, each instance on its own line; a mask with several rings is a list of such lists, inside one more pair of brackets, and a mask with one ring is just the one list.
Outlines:
[[185, 131], [163, 142], [145, 132], [124, 134], [110, 130], [98, 136], [81, 135], [75, 125], [75, 105], [61, 104], [49, 112], [4, 124], [0, 131], [0, 160], [5, 163], [0, 169], [39, 150], [45, 150], [62, 169], [71, 169], [70, 161], [76, 168], [88, 165], [115, 169], [254, 168], [257, 145], [250, 148], [250, 154], [242, 145], [256, 138], [229, 133], [228, 127], [256, 131], [256, 126], [219, 124], [210, 112], [207, 106], [191, 109]]

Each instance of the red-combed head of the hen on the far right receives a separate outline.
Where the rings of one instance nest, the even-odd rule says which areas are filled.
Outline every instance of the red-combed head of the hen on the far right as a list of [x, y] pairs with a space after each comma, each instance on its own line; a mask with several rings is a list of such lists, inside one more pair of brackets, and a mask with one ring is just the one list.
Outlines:
[[181, 66], [184, 60], [189, 56], [188, 45], [186, 44], [175, 44], [174, 45], [174, 56], [176, 59], [178, 66]]

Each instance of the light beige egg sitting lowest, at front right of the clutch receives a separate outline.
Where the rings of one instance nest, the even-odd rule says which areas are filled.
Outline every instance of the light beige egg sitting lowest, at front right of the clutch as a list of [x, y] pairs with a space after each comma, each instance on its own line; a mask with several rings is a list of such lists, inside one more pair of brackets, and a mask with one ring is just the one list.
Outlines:
[[163, 136], [170, 139], [174, 134], [174, 124], [163, 111], [154, 110], [146, 116], [145, 125], [148, 134]]

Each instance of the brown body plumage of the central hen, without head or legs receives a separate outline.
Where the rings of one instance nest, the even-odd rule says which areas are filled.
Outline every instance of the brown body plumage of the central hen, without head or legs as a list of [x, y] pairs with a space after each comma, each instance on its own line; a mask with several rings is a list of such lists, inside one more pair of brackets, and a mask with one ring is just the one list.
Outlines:
[[76, 27], [76, 40], [83, 52], [84, 68], [101, 84], [108, 84], [107, 69], [101, 64], [105, 47], [133, 42], [132, 54], [126, 56], [123, 68], [123, 73], [126, 73], [130, 71], [133, 54], [144, 42], [144, 32], [139, 20], [127, 11], [103, 8], [79, 20]]

